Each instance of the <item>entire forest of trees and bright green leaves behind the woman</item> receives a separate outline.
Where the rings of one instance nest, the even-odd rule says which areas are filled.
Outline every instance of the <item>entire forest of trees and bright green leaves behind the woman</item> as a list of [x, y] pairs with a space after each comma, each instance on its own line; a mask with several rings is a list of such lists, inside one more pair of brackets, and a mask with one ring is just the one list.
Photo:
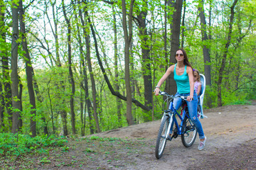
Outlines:
[[[175, 52], [203, 108], [255, 100], [256, 1], [1, 0], [0, 132], [85, 136], [161, 118]], [[176, 92], [172, 76], [161, 91]]]

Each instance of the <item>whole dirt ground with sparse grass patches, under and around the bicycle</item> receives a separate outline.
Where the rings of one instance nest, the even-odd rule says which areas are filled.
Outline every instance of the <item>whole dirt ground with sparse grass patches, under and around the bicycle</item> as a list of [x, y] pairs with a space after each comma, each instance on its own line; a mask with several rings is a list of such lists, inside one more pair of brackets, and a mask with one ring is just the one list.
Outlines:
[[208, 118], [201, 119], [207, 136], [203, 151], [197, 149], [198, 137], [189, 148], [177, 137], [167, 141], [163, 157], [156, 159], [156, 120], [70, 138], [67, 150], [57, 147], [46, 154], [28, 154], [0, 164], [0, 169], [256, 169], [256, 106], [224, 106], [204, 113]]

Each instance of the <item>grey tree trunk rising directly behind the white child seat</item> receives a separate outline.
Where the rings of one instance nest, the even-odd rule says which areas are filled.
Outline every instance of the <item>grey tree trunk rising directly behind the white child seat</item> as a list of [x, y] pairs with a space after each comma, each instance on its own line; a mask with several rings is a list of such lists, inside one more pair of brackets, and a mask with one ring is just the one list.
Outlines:
[[[200, 19], [201, 19], [201, 34], [202, 34], [202, 42], [208, 40], [208, 35], [206, 32], [206, 16], [203, 8], [204, 1], [201, 0], [199, 3], [198, 11], [200, 11]], [[211, 78], [210, 78], [210, 49], [203, 45], [203, 62], [204, 62], [204, 73], [206, 76], [206, 85], [211, 86]]]

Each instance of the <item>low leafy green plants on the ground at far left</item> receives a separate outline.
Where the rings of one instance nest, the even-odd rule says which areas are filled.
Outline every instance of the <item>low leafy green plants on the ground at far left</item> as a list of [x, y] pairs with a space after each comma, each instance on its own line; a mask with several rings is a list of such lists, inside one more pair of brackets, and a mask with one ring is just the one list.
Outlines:
[[[32, 152], [48, 152], [45, 147], [63, 147], [68, 142], [65, 138], [53, 135], [36, 136], [0, 133], [0, 155], [18, 156]], [[64, 147], [67, 150], [68, 147]]]

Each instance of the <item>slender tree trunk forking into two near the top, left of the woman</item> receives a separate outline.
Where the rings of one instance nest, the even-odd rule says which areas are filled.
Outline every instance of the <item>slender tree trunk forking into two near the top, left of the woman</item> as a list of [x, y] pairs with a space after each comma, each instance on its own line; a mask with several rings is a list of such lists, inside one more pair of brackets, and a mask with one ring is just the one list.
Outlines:
[[132, 118], [132, 89], [130, 84], [130, 72], [129, 72], [129, 45], [132, 40], [132, 11], [133, 11], [134, 0], [131, 1], [129, 6], [129, 20], [127, 30], [127, 14], [126, 14], [126, 3], [125, 0], [122, 0], [122, 26], [124, 30], [124, 65], [125, 65], [125, 89], [127, 93], [127, 123], [128, 125], [134, 124]]

